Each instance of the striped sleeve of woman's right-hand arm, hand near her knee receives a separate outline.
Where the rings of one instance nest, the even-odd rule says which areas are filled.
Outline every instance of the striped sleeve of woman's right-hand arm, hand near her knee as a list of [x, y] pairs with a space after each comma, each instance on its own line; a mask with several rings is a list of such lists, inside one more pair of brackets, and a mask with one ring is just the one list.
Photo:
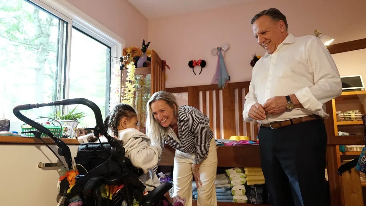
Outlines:
[[194, 163], [196, 164], [201, 164], [206, 159], [210, 148], [210, 128], [208, 126], [208, 120], [206, 119], [207, 118], [202, 116], [193, 127], [196, 143]]

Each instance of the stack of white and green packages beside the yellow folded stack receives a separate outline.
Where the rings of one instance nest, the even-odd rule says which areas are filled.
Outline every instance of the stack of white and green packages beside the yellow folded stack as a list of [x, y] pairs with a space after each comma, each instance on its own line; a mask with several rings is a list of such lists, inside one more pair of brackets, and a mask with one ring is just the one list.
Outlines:
[[231, 194], [233, 196], [233, 202], [247, 203], [248, 198], [245, 195], [246, 174], [241, 168], [230, 168], [226, 170], [230, 179]]

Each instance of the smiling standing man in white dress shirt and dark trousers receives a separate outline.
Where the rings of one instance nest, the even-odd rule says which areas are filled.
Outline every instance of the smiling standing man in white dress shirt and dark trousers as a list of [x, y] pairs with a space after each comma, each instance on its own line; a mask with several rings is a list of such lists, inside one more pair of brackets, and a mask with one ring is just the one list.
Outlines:
[[325, 102], [342, 84], [328, 49], [318, 37], [287, 33], [277, 9], [251, 19], [266, 54], [257, 61], [245, 97], [245, 121], [258, 121], [261, 165], [273, 206], [324, 206]]

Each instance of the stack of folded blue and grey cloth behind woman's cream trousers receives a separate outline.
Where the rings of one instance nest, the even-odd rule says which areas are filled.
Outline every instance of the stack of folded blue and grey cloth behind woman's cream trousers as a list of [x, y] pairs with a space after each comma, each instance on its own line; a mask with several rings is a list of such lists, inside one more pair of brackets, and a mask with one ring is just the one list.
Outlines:
[[[226, 174], [217, 174], [215, 179], [217, 202], [234, 202], [230, 190], [230, 180]], [[195, 182], [192, 183], [193, 198], [197, 200], [198, 191]]]

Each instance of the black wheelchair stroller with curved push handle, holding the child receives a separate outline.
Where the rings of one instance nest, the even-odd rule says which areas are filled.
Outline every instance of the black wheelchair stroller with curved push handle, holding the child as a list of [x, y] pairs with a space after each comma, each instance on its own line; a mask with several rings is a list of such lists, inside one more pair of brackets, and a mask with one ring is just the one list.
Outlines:
[[[147, 195], [144, 195], [145, 186], [139, 181], [142, 170], [134, 167], [130, 160], [124, 156], [125, 151], [122, 142], [112, 138], [104, 128], [101, 111], [94, 102], [85, 98], [66, 99], [41, 104], [18, 105], [13, 113], [20, 120], [36, 128], [31, 131], [34, 136], [41, 139], [41, 134], [48, 135], [57, 145], [57, 153], [65, 158], [68, 171], [72, 170], [72, 157], [69, 147], [52, 134], [47, 128], [22, 115], [20, 111], [55, 105], [83, 104], [88, 106], [95, 115], [96, 127], [89, 128], [94, 131], [94, 136], [103, 135], [108, 143], [84, 143], [78, 147], [74, 158], [79, 175], [75, 176], [74, 184], [61, 181], [60, 195], [65, 198], [64, 205], [68, 205], [72, 198], [78, 196], [83, 206], [120, 206], [122, 204], [132, 206], [168, 206], [164, 194], [172, 187], [170, 183], [163, 183]], [[42, 139], [41, 139], [42, 140]], [[108, 198], [101, 194], [103, 186], [108, 186]], [[118, 187], [118, 191], [112, 195], [112, 186]], [[115, 190], [116, 191], [116, 190]]]

